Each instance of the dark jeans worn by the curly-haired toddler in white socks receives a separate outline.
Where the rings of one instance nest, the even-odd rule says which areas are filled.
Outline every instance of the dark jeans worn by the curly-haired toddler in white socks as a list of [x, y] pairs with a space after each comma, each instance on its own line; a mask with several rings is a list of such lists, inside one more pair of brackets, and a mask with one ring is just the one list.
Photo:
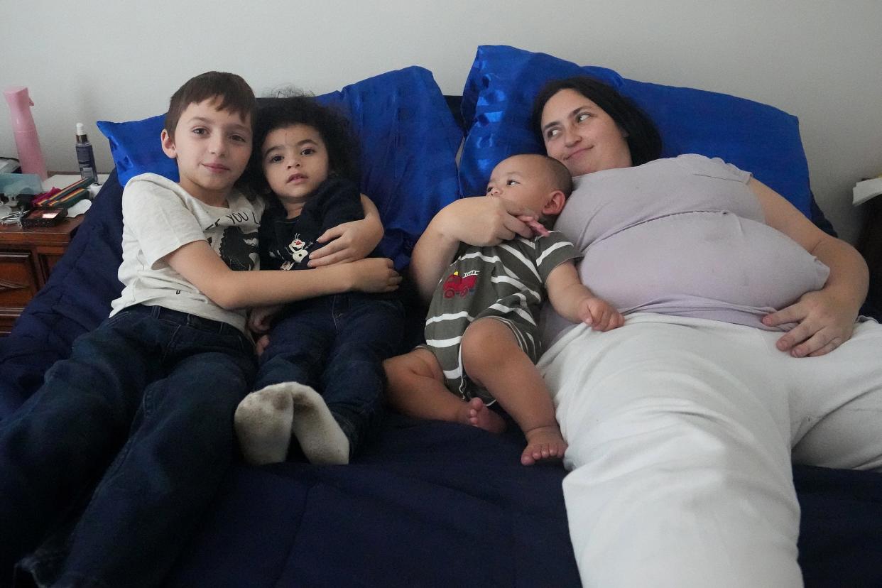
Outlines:
[[314, 388], [354, 455], [382, 413], [383, 360], [401, 343], [401, 302], [391, 295], [335, 294], [295, 302], [285, 313], [260, 356], [254, 388], [282, 382]]

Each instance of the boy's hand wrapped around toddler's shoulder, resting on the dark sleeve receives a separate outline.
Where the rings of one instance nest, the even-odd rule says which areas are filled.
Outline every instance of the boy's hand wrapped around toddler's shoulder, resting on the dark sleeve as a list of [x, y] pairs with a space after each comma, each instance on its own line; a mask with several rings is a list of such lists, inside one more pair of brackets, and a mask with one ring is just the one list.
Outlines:
[[380, 214], [369, 197], [362, 194], [361, 201], [364, 218], [331, 227], [321, 234], [316, 241], [328, 244], [310, 253], [310, 267], [363, 259], [377, 247], [384, 234]]

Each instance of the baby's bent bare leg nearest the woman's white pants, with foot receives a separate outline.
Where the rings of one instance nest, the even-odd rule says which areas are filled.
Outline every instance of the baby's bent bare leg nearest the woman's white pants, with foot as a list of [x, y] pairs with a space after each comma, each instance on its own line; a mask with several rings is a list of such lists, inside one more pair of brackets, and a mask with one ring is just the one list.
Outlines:
[[462, 365], [527, 436], [522, 464], [564, 457], [566, 442], [557, 427], [549, 391], [509, 327], [493, 318], [469, 325], [462, 338]]

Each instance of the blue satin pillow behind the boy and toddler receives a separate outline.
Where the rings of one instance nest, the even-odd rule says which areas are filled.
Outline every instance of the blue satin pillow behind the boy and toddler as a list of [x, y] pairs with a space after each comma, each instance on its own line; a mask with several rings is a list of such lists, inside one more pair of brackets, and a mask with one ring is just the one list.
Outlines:
[[[408, 67], [317, 97], [340, 108], [361, 143], [361, 190], [385, 227], [379, 248], [403, 268], [431, 218], [458, 197], [456, 153], [462, 130], [429, 70]], [[98, 128], [110, 141], [119, 182], [153, 172], [177, 181], [175, 160], [162, 153], [165, 115]]]

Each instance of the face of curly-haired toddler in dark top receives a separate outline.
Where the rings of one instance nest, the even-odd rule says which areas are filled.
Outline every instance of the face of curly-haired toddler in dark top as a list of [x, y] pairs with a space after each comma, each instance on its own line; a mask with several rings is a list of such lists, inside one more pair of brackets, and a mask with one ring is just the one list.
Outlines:
[[282, 205], [302, 205], [328, 177], [330, 161], [325, 141], [307, 124], [271, 131], [261, 149], [266, 182]]

